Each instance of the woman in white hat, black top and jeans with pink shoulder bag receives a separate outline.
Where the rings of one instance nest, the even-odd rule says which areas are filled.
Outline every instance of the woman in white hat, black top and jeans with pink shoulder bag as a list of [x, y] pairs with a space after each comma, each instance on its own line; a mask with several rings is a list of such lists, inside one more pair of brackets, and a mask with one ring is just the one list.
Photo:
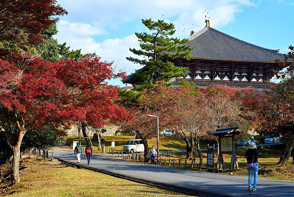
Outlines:
[[[253, 164], [253, 168], [248, 170], [248, 188], [247, 191], [256, 191], [256, 183], [257, 183], [257, 172], [258, 172], [258, 160], [259, 157], [258, 150], [256, 149], [256, 145], [254, 142], [249, 144], [249, 149], [245, 153], [245, 157], [247, 160], [247, 164]], [[252, 173], [253, 174], [253, 187], [252, 185]]]

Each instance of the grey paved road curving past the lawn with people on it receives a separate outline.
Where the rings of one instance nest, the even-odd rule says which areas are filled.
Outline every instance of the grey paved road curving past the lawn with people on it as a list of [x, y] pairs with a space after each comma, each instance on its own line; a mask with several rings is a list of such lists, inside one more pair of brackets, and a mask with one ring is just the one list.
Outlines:
[[81, 155], [81, 163], [77, 163], [74, 152], [69, 148], [63, 147], [54, 150], [54, 157], [70, 165], [189, 195], [294, 197], [294, 182], [292, 181], [259, 178], [257, 191], [248, 192], [246, 191], [248, 177], [144, 165], [102, 154], [93, 154], [90, 165], [87, 165], [84, 153]]

